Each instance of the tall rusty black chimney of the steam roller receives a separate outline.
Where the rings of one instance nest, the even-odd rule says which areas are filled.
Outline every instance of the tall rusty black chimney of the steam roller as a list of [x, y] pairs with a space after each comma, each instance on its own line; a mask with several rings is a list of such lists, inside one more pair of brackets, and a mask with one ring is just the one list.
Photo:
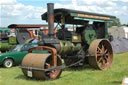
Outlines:
[[47, 4], [47, 18], [48, 18], [48, 35], [50, 39], [54, 39], [54, 4]]

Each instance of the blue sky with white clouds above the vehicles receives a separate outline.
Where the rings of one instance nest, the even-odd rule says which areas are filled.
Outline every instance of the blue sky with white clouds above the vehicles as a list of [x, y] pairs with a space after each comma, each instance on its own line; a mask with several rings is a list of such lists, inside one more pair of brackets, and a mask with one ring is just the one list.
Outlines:
[[41, 15], [47, 3], [54, 8], [109, 14], [128, 24], [128, 0], [0, 0], [0, 27], [10, 24], [46, 24]]

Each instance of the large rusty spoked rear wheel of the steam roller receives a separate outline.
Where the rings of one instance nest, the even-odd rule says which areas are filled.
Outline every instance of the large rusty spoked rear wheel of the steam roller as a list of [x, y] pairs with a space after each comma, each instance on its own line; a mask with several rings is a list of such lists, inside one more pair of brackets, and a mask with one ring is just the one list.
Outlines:
[[89, 47], [89, 64], [99, 70], [108, 69], [113, 61], [113, 50], [110, 42], [104, 39], [94, 40]]

